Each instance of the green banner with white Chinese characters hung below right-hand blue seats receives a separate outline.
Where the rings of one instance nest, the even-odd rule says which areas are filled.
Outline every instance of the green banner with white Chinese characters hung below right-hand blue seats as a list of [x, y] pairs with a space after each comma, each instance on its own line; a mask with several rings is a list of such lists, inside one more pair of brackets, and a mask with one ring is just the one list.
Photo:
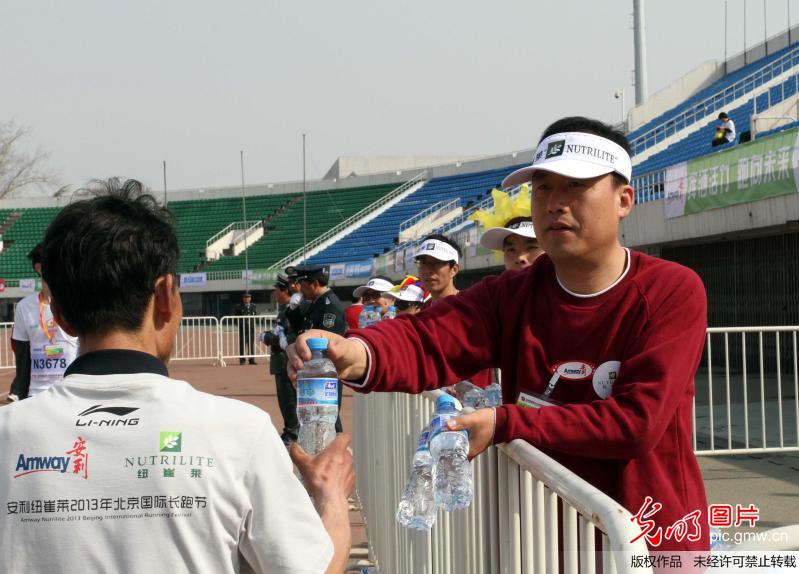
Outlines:
[[799, 128], [677, 164], [666, 170], [666, 217], [797, 192]]

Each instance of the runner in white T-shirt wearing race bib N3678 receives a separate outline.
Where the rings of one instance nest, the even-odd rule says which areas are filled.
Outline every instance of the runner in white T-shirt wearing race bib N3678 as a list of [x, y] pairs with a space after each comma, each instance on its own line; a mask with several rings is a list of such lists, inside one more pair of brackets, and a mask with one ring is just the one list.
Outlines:
[[[28, 258], [41, 276], [41, 244]], [[50, 310], [50, 289], [42, 281], [42, 290], [17, 303], [14, 311], [14, 353], [17, 358], [16, 395], [20, 399], [46, 391], [64, 378], [64, 371], [78, 356], [78, 339], [56, 324]]]

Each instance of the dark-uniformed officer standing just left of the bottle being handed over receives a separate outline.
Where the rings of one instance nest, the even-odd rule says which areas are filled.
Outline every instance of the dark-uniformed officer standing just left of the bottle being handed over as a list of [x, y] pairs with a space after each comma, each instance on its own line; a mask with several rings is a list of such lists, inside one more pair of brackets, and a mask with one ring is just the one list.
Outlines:
[[285, 351], [286, 346], [293, 343], [295, 338], [286, 318], [290, 298], [288, 277], [280, 273], [275, 282], [277, 303], [275, 327], [271, 331], [261, 333], [259, 337], [260, 341], [270, 349], [269, 373], [275, 376], [277, 402], [280, 405], [280, 414], [283, 416], [283, 432], [280, 438], [286, 446], [297, 440], [297, 433], [300, 430], [300, 423], [297, 420], [297, 392], [289, 380]]

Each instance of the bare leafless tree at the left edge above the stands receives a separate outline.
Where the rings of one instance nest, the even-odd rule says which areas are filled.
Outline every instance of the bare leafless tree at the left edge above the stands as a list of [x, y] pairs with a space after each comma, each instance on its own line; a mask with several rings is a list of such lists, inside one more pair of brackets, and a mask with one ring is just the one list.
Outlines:
[[50, 155], [37, 149], [27, 152], [28, 128], [13, 121], [0, 122], [0, 199], [29, 188], [52, 193], [57, 177], [46, 165]]

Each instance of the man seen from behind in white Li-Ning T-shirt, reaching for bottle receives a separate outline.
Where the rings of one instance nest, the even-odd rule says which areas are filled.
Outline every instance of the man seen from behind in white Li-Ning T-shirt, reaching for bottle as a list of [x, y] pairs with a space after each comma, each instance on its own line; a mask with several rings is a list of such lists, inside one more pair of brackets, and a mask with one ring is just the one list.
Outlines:
[[292, 447], [312, 504], [269, 415], [169, 378], [172, 222], [138, 182], [106, 192], [45, 234], [53, 314], [81, 355], [0, 409], [3, 571], [342, 572], [348, 438], [316, 457]]

